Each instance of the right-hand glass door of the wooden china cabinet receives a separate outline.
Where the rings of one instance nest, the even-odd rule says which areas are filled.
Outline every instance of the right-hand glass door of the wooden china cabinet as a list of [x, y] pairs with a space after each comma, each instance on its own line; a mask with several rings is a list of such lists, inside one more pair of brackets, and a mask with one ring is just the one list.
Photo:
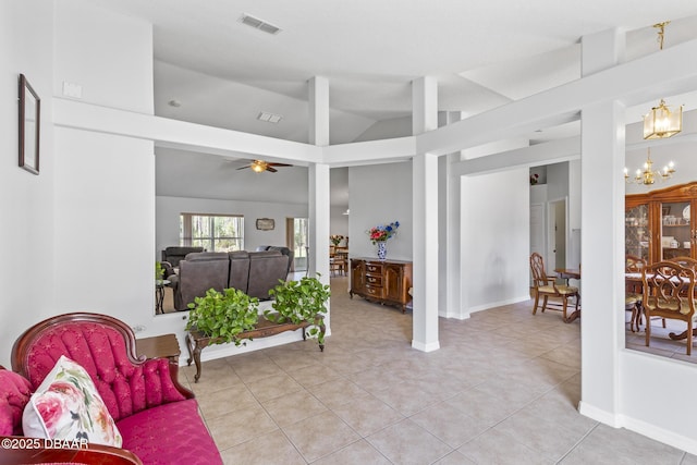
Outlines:
[[661, 204], [661, 260], [692, 256], [690, 203]]

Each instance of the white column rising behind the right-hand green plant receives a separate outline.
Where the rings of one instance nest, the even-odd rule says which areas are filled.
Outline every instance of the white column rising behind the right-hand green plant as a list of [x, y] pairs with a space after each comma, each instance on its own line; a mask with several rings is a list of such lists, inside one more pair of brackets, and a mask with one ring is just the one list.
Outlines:
[[[308, 81], [310, 144], [329, 145], [329, 82], [315, 76]], [[309, 166], [309, 257], [308, 276], [320, 273], [320, 280], [329, 284], [329, 166]], [[325, 321], [327, 323], [328, 321]]]

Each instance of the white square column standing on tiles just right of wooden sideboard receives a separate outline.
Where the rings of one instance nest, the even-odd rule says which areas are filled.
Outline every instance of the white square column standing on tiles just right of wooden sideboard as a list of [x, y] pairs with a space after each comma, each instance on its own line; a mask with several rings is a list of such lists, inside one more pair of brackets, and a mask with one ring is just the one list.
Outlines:
[[[412, 82], [412, 127], [420, 134], [438, 127], [438, 83]], [[438, 340], [438, 157], [417, 154], [413, 161], [414, 301], [412, 347], [440, 348]]]

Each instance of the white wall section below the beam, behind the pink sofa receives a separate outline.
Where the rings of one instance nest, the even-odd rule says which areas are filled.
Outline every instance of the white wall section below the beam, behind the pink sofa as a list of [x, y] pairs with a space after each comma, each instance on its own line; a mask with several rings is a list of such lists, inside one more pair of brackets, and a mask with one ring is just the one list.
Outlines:
[[54, 311], [149, 326], [154, 314], [152, 143], [56, 130]]

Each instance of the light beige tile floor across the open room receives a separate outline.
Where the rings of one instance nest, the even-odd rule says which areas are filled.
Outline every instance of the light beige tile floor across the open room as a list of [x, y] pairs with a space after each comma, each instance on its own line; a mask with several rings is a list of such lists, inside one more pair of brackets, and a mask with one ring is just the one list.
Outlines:
[[[579, 323], [531, 303], [441, 319], [411, 348], [412, 315], [350, 299], [332, 335], [183, 367], [225, 464], [697, 464], [576, 412]], [[505, 331], [502, 331], [505, 328]]]

